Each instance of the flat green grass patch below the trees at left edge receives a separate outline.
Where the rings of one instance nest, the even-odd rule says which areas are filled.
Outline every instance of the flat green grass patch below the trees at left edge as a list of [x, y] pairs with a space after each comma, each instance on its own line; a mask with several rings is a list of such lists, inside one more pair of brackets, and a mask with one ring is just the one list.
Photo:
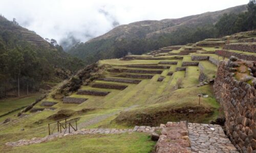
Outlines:
[[0, 115], [20, 107], [28, 106], [39, 98], [42, 94], [33, 94], [22, 98], [8, 98], [0, 100]]

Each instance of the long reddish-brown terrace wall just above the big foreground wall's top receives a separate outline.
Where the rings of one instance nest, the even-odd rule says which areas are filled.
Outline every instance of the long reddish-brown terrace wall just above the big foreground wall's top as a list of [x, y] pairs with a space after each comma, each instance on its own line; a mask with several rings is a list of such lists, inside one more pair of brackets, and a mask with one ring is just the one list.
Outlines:
[[229, 52], [228, 50], [216, 50], [215, 54], [226, 58], [229, 58], [230, 56], [235, 56], [239, 59], [243, 59], [246, 61], [256, 61], [256, 56]]

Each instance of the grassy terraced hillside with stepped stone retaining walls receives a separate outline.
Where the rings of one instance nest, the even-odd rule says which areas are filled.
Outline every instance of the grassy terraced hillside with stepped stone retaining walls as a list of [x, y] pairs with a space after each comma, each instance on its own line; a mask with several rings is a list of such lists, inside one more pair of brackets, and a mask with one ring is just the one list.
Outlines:
[[[255, 61], [255, 50], [250, 52], [251, 47], [255, 47], [255, 36], [256, 32], [252, 31], [221, 40], [207, 39], [184, 46], [168, 46], [141, 56], [98, 61], [80, 70], [67, 83], [34, 104], [32, 109], [19, 114], [19, 117], [12, 114], [0, 118], [0, 121], [11, 118], [0, 124], [0, 140], [6, 143], [46, 136], [48, 123], [65, 117], [68, 117], [68, 121], [77, 120], [78, 129], [127, 129], [135, 125], [158, 126], [167, 121], [180, 120], [196, 123], [214, 121], [223, 113], [212, 89], [219, 61], [227, 60], [233, 54], [244, 58], [250, 55]], [[230, 48], [230, 45], [240, 47], [240, 44], [245, 49]], [[251, 73], [256, 77], [255, 71]], [[198, 95], [201, 96], [200, 101]], [[57, 132], [54, 124], [50, 125], [50, 132]], [[110, 139], [113, 144], [105, 146], [105, 141], [96, 143], [111, 148], [117, 143], [113, 140], [116, 136], [120, 141], [131, 139], [129, 145], [135, 149], [135, 146], [152, 148], [155, 144], [143, 134], [136, 136], [136, 140], [126, 137], [126, 134], [97, 135], [95, 137]], [[87, 137], [92, 146], [86, 146], [86, 149], [97, 152], [99, 148], [93, 147], [95, 137]], [[72, 136], [67, 142], [74, 139], [76, 137]], [[61, 150], [62, 141], [65, 140], [55, 142], [58, 150]], [[34, 146], [34, 150], [46, 147], [44, 143]], [[25, 152], [31, 149], [12, 148], [4, 144], [0, 147], [6, 151], [19, 148]], [[131, 151], [129, 148], [123, 149], [123, 152]]]

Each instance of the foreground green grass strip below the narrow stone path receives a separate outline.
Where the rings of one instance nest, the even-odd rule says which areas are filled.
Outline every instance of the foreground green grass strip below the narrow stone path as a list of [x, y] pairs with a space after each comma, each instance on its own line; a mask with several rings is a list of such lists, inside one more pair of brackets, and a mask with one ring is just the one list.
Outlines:
[[156, 142], [144, 133], [77, 135], [46, 143], [2, 147], [4, 152], [150, 152]]

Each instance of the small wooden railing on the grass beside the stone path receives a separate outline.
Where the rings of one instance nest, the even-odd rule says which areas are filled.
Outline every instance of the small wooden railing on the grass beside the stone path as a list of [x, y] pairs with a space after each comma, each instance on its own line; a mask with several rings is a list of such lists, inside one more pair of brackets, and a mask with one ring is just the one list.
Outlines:
[[[65, 122], [61, 123], [61, 121], [64, 121], [64, 120], [65, 120]], [[76, 124], [75, 124], [75, 125], [76, 125], [75, 127], [71, 124], [71, 123], [74, 123], [74, 122], [76, 123]], [[63, 129], [66, 129], [66, 130], [67, 130], [67, 125], [68, 125], [68, 128], [69, 128], [69, 133], [70, 133], [70, 127], [71, 127], [74, 131], [77, 131], [77, 119], [67, 122], [67, 117], [66, 117], [66, 118], [63, 118], [63, 119], [56, 120], [56, 121], [54, 121], [54, 122], [48, 123], [49, 135], [51, 135], [50, 125], [51, 125], [51, 124], [54, 124], [54, 123], [57, 123], [58, 132], [60, 132], [60, 133], [62, 132], [62, 131], [61, 131], [61, 127], [62, 127]], [[55, 126], [55, 127], [56, 127], [56, 126]], [[54, 129], [55, 129], [55, 128], [53, 128], [53, 131], [54, 131]], [[52, 131], [52, 133], [53, 133], [53, 131]]]

